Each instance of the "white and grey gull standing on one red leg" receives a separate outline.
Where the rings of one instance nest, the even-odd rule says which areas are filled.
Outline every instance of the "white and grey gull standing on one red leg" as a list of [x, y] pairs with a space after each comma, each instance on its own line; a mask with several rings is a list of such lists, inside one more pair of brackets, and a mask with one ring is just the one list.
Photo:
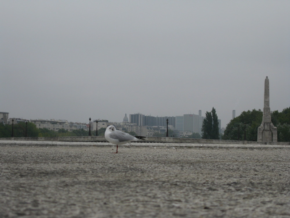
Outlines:
[[128, 133], [116, 130], [115, 126], [108, 126], [105, 131], [105, 139], [117, 145], [117, 151], [112, 153], [118, 153], [118, 145], [126, 144], [128, 142], [144, 139], [144, 136], [133, 136]]

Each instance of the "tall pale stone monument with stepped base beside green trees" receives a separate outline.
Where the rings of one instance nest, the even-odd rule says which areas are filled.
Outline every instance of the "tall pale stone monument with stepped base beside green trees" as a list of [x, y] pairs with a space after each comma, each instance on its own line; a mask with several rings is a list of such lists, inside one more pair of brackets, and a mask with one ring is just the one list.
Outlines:
[[265, 79], [263, 120], [258, 127], [258, 142], [277, 142], [277, 127], [271, 121], [268, 76]]

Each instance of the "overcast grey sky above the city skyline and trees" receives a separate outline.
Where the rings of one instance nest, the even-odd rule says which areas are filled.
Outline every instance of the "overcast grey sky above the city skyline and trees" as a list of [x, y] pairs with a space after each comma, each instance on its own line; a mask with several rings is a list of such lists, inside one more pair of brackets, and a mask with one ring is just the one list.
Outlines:
[[0, 0], [0, 111], [24, 119], [290, 106], [290, 1]]

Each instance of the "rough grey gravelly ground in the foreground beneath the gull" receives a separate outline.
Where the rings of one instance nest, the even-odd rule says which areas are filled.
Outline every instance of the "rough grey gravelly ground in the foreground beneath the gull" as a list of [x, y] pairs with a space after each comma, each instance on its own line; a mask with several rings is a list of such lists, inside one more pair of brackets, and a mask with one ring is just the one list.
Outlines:
[[0, 217], [290, 217], [290, 149], [0, 144]]

